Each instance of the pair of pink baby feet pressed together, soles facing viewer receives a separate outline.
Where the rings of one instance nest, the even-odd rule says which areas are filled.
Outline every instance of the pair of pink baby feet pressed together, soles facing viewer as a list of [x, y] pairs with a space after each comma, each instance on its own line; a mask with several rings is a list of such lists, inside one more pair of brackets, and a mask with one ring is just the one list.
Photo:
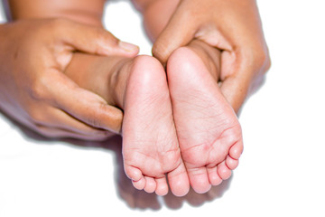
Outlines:
[[133, 61], [122, 131], [125, 174], [136, 189], [164, 195], [169, 184], [177, 196], [190, 186], [206, 193], [237, 167], [241, 127], [213, 67], [213, 57], [197, 45], [172, 53], [167, 76], [153, 57]]

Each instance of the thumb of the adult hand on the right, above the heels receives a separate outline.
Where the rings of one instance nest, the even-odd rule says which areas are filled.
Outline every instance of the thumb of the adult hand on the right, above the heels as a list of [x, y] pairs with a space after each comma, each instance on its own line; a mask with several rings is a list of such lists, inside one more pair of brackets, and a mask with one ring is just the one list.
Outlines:
[[187, 45], [195, 36], [195, 24], [188, 22], [188, 13], [176, 10], [170, 22], [163, 29], [157, 40], [153, 43], [153, 56], [163, 63], [177, 48]]

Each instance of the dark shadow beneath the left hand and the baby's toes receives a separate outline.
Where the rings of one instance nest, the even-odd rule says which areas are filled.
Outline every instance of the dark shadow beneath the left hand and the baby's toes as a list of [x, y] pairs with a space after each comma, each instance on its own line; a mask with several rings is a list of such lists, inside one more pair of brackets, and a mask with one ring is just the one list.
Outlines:
[[[144, 191], [138, 191], [135, 189], [130, 179], [125, 175], [123, 168], [122, 158], [122, 137], [114, 136], [106, 141], [94, 142], [94, 141], [82, 141], [77, 139], [49, 139], [42, 137], [26, 127], [22, 127], [17, 123], [14, 123], [16, 129], [19, 129], [24, 137], [28, 137], [28, 140], [33, 141], [35, 144], [42, 144], [51, 146], [53, 143], [60, 142], [65, 146], [71, 146], [80, 150], [98, 150], [102, 152], [108, 152], [113, 155], [114, 160], [114, 180], [116, 184], [116, 193], [120, 199], [122, 199], [128, 207], [132, 209], [140, 210], [160, 210], [162, 204], [166, 207], [177, 210], [180, 209], [183, 203], [189, 203], [191, 206], [200, 206], [206, 202], [211, 202], [218, 199], [228, 190], [231, 183], [231, 177], [218, 186], [214, 186], [208, 193], [195, 193], [190, 190], [186, 196], [176, 197], [172, 193], [168, 193], [164, 197], [156, 196], [155, 193], [145, 193]], [[163, 203], [162, 203], [163, 202]]]

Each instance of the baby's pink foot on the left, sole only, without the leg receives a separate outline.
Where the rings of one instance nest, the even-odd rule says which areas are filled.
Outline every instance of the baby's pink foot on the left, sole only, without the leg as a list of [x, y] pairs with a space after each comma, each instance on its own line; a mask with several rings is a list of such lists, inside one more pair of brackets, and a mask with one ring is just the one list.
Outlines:
[[172, 102], [163, 66], [150, 56], [138, 56], [130, 66], [123, 109], [125, 174], [135, 188], [164, 195], [165, 174], [175, 195], [190, 189], [189, 177], [172, 118]]

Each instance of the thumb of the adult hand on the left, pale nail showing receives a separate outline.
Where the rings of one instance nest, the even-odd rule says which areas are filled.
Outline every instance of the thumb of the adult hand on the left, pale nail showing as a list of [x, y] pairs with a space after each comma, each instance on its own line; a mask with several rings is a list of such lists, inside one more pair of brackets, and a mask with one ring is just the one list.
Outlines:
[[112, 33], [98, 26], [79, 24], [65, 19], [54, 21], [63, 42], [76, 50], [100, 55], [135, 56], [139, 52], [138, 46], [119, 41]]

